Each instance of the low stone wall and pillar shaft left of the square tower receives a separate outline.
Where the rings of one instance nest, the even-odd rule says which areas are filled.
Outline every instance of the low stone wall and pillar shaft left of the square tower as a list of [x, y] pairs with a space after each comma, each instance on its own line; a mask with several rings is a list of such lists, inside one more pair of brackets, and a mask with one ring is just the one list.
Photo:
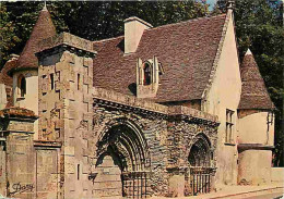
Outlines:
[[59, 197], [57, 142], [34, 141], [34, 120], [4, 119], [0, 124], [0, 192], [13, 198]]

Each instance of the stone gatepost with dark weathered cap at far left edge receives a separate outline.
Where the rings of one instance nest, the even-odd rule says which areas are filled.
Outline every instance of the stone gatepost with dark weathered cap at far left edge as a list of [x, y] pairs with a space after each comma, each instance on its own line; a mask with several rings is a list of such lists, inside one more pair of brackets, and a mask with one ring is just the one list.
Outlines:
[[35, 113], [23, 108], [0, 111], [0, 194], [35, 198], [33, 151]]

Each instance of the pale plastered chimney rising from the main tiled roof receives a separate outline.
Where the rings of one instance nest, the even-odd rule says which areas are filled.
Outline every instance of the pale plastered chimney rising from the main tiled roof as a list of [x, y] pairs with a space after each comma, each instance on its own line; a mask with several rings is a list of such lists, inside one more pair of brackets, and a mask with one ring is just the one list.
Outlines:
[[137, 51], [144, 29], [153, 26], [137, 16], [125, 20], [125, 53]]

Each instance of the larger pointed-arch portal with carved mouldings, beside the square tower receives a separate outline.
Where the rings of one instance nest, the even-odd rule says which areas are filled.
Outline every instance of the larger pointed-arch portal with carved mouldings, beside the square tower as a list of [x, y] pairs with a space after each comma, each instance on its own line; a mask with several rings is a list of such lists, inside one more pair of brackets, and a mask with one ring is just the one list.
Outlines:
[[120, 122], [108, 128], [98, 139], [96, 154], [100, 198], [146, 198], [150, 159], [135, 125]]

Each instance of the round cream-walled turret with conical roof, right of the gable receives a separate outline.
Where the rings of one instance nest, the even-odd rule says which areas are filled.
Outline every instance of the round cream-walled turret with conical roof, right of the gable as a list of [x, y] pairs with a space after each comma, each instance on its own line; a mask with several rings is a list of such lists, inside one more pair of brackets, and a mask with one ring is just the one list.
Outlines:
[[238, 105], [238, 183], [245, 185], [270, 183], [274, 104], [249, 49], [241, 63], [240, 76], [242, 86]]

